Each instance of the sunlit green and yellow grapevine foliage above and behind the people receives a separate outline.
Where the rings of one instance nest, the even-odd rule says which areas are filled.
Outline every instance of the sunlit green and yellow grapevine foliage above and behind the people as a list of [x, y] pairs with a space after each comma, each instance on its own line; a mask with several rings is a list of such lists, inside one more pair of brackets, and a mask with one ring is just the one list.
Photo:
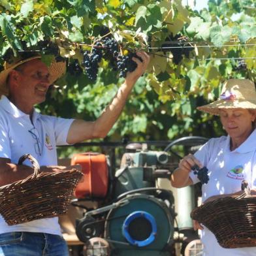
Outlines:
[[[0, 66], [31, 51], [46, 63], [65, 58], [67, 74], [37, 108], [94, 120], [124, 79], [97, 44], [109, 37], [120, 56], [143, 50], [151, 61], [107, 140], [217, 136], [218, 119], [196, 107], [226, 79], [256, 81], [255, 17], [253, 0], [210, 0], [200, 12], [180, 0], [1, 0]], [[83, 58], [96, 45], [103, 58], [91, 80]]]

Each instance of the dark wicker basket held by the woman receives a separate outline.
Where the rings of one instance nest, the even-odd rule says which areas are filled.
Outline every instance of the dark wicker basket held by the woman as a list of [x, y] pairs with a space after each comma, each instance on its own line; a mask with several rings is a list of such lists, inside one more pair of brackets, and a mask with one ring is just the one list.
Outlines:
[[223, 248], [256, 246], [256, 196], [250, 195], [246, 182], [240, 196], [223, 197], [206, 202], [191, 212], [216, 236]]

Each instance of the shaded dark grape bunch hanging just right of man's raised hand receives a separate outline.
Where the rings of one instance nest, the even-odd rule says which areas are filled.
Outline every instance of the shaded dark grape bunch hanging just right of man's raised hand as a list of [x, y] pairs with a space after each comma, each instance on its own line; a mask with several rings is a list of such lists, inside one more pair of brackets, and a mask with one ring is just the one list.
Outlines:
[[[174, 41], [176, 43], [172, 43]], [[162, 44], [161, 50], [163, 52], [171, 52], [173, 56], [172, 61], [176, 65], [178, 65], [180, 61], [182, 61], [183, 56], [189, 57], [189, 52], [191, 52], [191, 50], [194, 49], [192, 46], [187, 47], [189, 46], [189, 44], [185, 44], [186, 41], [187, 41], [187, 37], [182, 37], [181, 35], [178, 35], [178, 34], [175, 35], [175, 37], [170, 35], [169, 37], [167, 37], [167, 39], [165, 39], [165, 43]], [[167, 48], [165, 49], [165, 47]], [[177, 47], [177, 48], [168, 48], [168, 47]]]

